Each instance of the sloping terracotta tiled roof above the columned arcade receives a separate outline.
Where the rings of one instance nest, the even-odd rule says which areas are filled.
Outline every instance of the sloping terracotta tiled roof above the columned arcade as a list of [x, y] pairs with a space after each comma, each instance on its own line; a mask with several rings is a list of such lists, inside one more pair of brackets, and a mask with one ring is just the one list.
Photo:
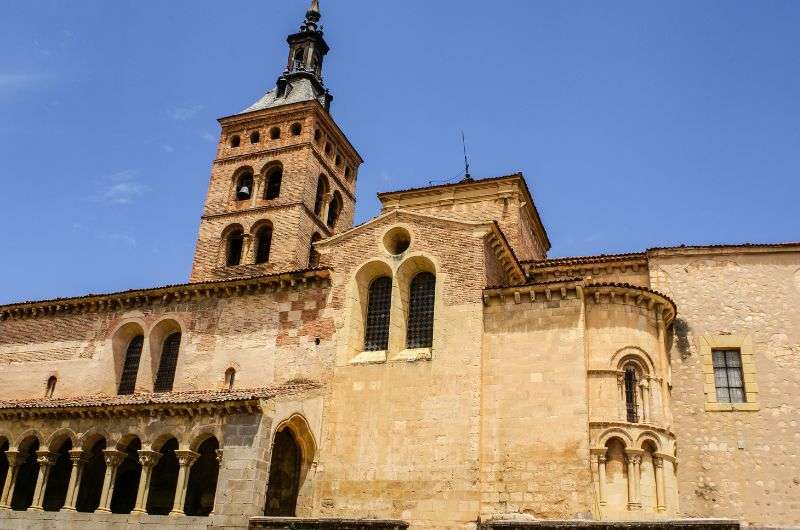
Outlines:
[[0, 410], [7, 409], [65, 409], [76, 407], [113, 407], [131, 405], [224, 403], [271, 399], [313, 390], [321, 385], [314, 381], [297, 381], [280, 386], [242, 390], [190, 390], [158, 394], [130, 394], [126, 396], [83, 396], [70, 398], [37, 398], [0, 401]]

